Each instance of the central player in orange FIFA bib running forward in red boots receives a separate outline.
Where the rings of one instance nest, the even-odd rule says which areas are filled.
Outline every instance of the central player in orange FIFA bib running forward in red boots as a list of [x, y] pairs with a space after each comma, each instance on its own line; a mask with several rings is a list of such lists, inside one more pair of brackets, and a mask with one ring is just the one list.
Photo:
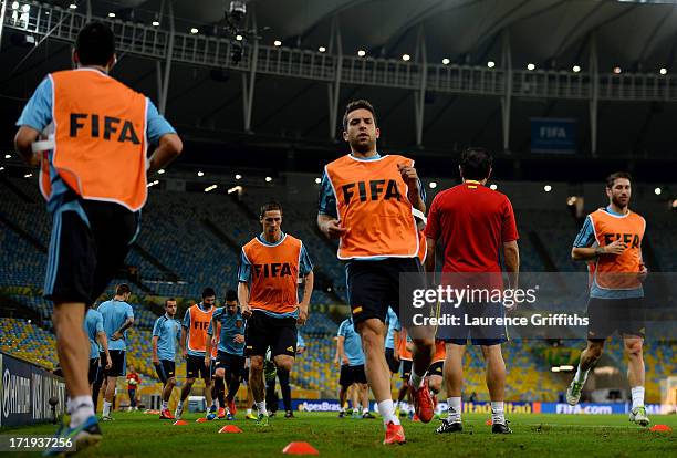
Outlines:
[[[384, 324], [388, 306], [399, 303], [399, 274], [412, 278], [408, 287], [425, 288], [417, 257], [416, 218], [426, 209], [425, 194], [414, 160], [399, 155], [381, 156], [374, 107], [367, 101], [351, 102], [343, 116], [343, 139], [351, 153], [327, 164], [321, 185], [317, 226], [340, 239], [338, 259], [347, 261], [346, 277], [353, 322], [362, 336], [367, 381], [384, 419], [384, 444], [406, 441], [390, 398], [385, 360]], [[418, 284], [414, 284], [418, 283]], [[433, 398], [425, 381], [433, 357], [430, 336], [414, 339], [414, 371], [409, 387], [418, 416], [433, 419]]]

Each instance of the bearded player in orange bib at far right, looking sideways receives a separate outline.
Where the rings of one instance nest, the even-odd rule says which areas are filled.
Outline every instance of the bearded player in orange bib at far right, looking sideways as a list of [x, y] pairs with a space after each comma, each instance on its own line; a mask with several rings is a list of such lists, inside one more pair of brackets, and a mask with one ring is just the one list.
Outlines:
[[628, 208], [631, 181], [625, 171], [606, 178], [608, 206], [587, 215], [571, 251], [576, 261], [594, 261], [594, 270], [587, 303], [587, 347], [581, 353], [576, 374], [566, 389], [566, 402], [572, 406], [579, 403], [587, 373], [602, 356], [606, 337], [617, 331], [628, 358], [633, 398], [629, 419], [647, 426], [642, 348], [645, 332], [642, 282], [647, 274], [642, 241], [646, 220]]

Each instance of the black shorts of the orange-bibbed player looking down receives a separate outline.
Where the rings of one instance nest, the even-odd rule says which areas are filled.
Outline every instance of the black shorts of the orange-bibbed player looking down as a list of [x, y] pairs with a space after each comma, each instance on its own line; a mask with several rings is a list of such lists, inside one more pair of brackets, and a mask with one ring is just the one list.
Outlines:
[[244, 354], [247, 356], [265, 356], [268, 347], [271, 355], [296, 356], [296, 319], [273, 318], [260, 310], [254, 310], [247, 320], [244, 331]]

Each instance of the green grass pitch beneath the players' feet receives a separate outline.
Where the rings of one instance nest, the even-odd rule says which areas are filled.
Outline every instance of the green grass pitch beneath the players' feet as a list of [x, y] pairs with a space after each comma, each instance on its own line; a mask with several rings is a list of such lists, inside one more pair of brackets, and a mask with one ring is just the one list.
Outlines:
[[[296, 418], [274, 417], [268, 428], [244, 420], [195, 423], [187, 414], [186, 426], [159, 420], [156, 415], [114, 413], [115, 421], [102, 423], [104, 440], [79, 457], [269, 457], [282, 456], [291, 441], [308, 441], [320, 455], [330, 457], [632, 457], [677, 456], [677, 434], [652, 433], [633, 425], [624, 415], [511, 415], [512, 435], [492, 435], [485, 425], [487, 416], [464, 416], [464, 433], [436, 435], [439, 421], [404, 420], [407, 444], [383, 446], [381, 419], [336, 418], [336, 414], [296, 413]], [[677, 416], [654, 416], [653, 424], [677, 429]], [[239, 426], [243, 434], [217, 434], [226, 424]], [[7, 435], [51, 435], [52, 425], [4, 429]], [[34, 454], [33, 454], [34, 455]], [[29, 456], [12, 454], [13, 457]]]

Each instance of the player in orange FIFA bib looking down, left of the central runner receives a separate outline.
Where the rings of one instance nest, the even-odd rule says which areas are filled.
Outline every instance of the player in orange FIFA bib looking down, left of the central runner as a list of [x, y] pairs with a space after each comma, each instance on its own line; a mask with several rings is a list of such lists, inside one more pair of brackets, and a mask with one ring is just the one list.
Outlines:
[[[313, 264], [303, 242], [282, 231], [282, 206], [261, 207], [261, 235], [242, 247], [238, 272], [238, 299], [247, 319], [246, 354], [250, 357], [249, 383], [259, 413], [257, 425], [268, 426], [263, 358], [271, 350], [282, 396], [291, 399], [289, 373], [296, 354], [296, 324], [308, 319], [313, 292]], [[299, 279], [303, 299], [299, 302]], [[285, 383], [283, 383], [285, 382]]]

